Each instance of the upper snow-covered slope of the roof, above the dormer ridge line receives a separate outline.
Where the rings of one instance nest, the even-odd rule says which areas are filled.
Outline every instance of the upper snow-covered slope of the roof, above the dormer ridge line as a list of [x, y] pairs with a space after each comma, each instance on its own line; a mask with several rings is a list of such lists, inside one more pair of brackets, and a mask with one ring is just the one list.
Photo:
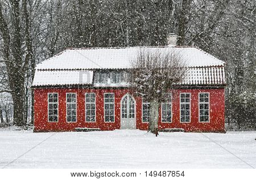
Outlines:
[[[37, 70], [90, 70], [94, 68], [129, 68], [140, 48], [73, 48], [43, 61]], [[224, 66], [224, 62], [195, 46], [146, 47], [151, 50], [172, 50], [183, 55], [188, 67]]]

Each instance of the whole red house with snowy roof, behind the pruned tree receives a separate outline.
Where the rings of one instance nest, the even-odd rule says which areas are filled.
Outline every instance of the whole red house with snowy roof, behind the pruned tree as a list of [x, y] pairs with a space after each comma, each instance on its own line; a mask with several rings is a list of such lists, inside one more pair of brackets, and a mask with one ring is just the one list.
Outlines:
[[[128, 83], [139, 48], [67, 49], [36, 66], [34, 131], [147, 130], [150, 104]], [[225, 63], [195, 46], [147, 48], [180, 53], [188, 65], [159, 109], [159, 129], [224, 132]]]

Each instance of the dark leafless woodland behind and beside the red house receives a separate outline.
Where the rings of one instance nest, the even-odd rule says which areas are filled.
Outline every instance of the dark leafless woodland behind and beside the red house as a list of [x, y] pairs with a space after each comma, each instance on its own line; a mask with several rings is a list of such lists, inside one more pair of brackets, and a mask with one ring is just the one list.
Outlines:
[[256, 129], [256, 1], [0, 0], [0, 121], [33, 123], [35, 65], [68, 47], [159, 46], [226, 62], [226, 123]]

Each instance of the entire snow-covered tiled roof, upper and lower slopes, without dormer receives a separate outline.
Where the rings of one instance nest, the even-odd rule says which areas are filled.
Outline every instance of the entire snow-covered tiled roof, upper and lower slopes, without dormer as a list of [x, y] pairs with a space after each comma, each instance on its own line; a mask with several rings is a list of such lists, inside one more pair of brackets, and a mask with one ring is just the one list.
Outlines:
[[[95, 84], [93, 70], [127, 69], [139, 48], [72, 48], [39, 63], [32, 87], [56, 85], [93, 85], [94, 87], [127, 87], [127, 83]], [[180, 85], [225, 85], [225, 62], [195, 46], [146, 47], [170, 50], [182, 55], [188, 71]]]

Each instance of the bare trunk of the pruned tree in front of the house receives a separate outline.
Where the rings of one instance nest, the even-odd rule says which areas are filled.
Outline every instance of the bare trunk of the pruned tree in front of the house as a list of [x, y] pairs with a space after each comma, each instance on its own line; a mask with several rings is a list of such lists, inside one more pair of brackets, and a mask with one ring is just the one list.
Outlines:
[[150, 122], [148, 126], [150, 132], [156, 134], [156, 136], [158, 134], [159, 106], [160, 103], [157, 99], [150, 101]]

